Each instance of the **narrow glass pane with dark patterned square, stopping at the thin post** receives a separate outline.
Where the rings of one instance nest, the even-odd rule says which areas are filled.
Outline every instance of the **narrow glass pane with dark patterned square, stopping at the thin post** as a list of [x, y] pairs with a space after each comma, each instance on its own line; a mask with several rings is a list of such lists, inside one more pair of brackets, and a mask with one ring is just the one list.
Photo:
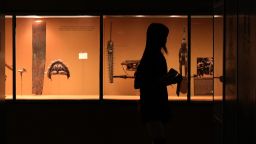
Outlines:
[[191, 17], [191, 100], [213, 100], [212, 16]]

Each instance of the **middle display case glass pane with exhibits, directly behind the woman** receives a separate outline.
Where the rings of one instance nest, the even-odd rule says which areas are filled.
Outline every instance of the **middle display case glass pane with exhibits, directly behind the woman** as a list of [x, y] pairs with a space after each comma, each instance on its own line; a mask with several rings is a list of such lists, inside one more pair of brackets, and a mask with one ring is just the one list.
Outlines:
[[[179, 50], [187, 42], [187, 16], [104, 16], [103, 77], [104, 99], [139, 99], [134, 89], [134, 72], [146, 44], [146, 31], [151, 23], [163, 23], [169, 28], [168, 69], [179, 68]], [[184, 70], [183, 70], [184, 71]], [[185, 75], [185, 73], [183, 73]], [[186, 100], [187, 88], [176, 95], [177, 85], [168, 86], [170, 100]]]

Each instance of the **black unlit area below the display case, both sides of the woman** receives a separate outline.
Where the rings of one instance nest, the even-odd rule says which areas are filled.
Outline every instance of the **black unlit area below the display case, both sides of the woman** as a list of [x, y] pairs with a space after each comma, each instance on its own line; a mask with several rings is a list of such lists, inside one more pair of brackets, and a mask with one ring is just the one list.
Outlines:
[[[6, 144], [151, 144], [137, 101], [7, 101]], [[213, 144], [210, 102], [170, 102], [168, 144]], [[2, 109], [3, 110], [3, 109]]]

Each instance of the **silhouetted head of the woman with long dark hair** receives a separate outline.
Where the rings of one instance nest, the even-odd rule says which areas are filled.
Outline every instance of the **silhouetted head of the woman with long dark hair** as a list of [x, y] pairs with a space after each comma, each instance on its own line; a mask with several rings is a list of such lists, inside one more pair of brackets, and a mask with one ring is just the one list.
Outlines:
[[169, 33], [168, 27], [161, 23], [152, 23], [147, 29], [146, 47], [151, 51], [160, 51], [162, 48], [167, 53], [166, 41]]

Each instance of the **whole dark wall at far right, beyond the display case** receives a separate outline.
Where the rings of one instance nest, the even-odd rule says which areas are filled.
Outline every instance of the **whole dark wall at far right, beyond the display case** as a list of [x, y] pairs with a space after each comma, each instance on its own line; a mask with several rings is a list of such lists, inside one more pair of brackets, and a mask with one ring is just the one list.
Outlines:
[[226, 2], [224, 142], [256, 143], [255, 2]]

